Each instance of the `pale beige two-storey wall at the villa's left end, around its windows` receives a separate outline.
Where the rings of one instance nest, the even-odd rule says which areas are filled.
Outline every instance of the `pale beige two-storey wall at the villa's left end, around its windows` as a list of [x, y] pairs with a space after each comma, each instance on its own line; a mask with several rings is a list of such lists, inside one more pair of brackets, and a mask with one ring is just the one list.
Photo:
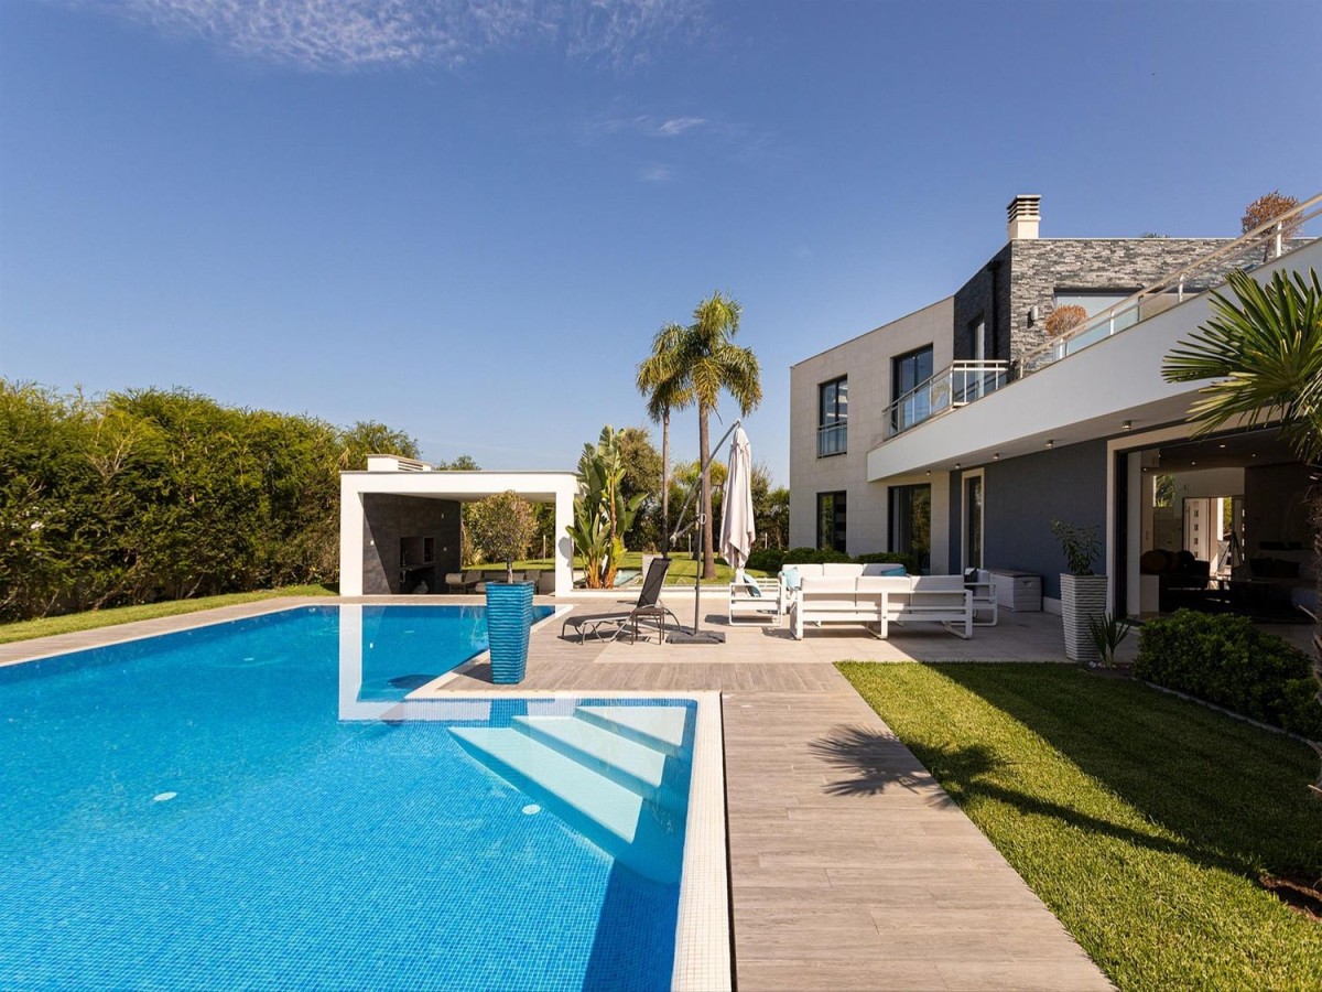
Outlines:
[[[945, 368], [954, 356], [953, 323], [953, 298], [944, 299], [791, 368], [791, 546], [817, 544], [817, 493], [843, 491], [847, 493], [849, 553], [888, 550], [888, 491], [867, 481], [867, 452], [884, 436], [886, 407], [891, 402], [891, 358], [931, 344], [933, 369]], [[847, 451], [818, 458], [817, 388], [841, 376], [849, 377]], [[936, 517], [936, 487], [932, 495]]]

